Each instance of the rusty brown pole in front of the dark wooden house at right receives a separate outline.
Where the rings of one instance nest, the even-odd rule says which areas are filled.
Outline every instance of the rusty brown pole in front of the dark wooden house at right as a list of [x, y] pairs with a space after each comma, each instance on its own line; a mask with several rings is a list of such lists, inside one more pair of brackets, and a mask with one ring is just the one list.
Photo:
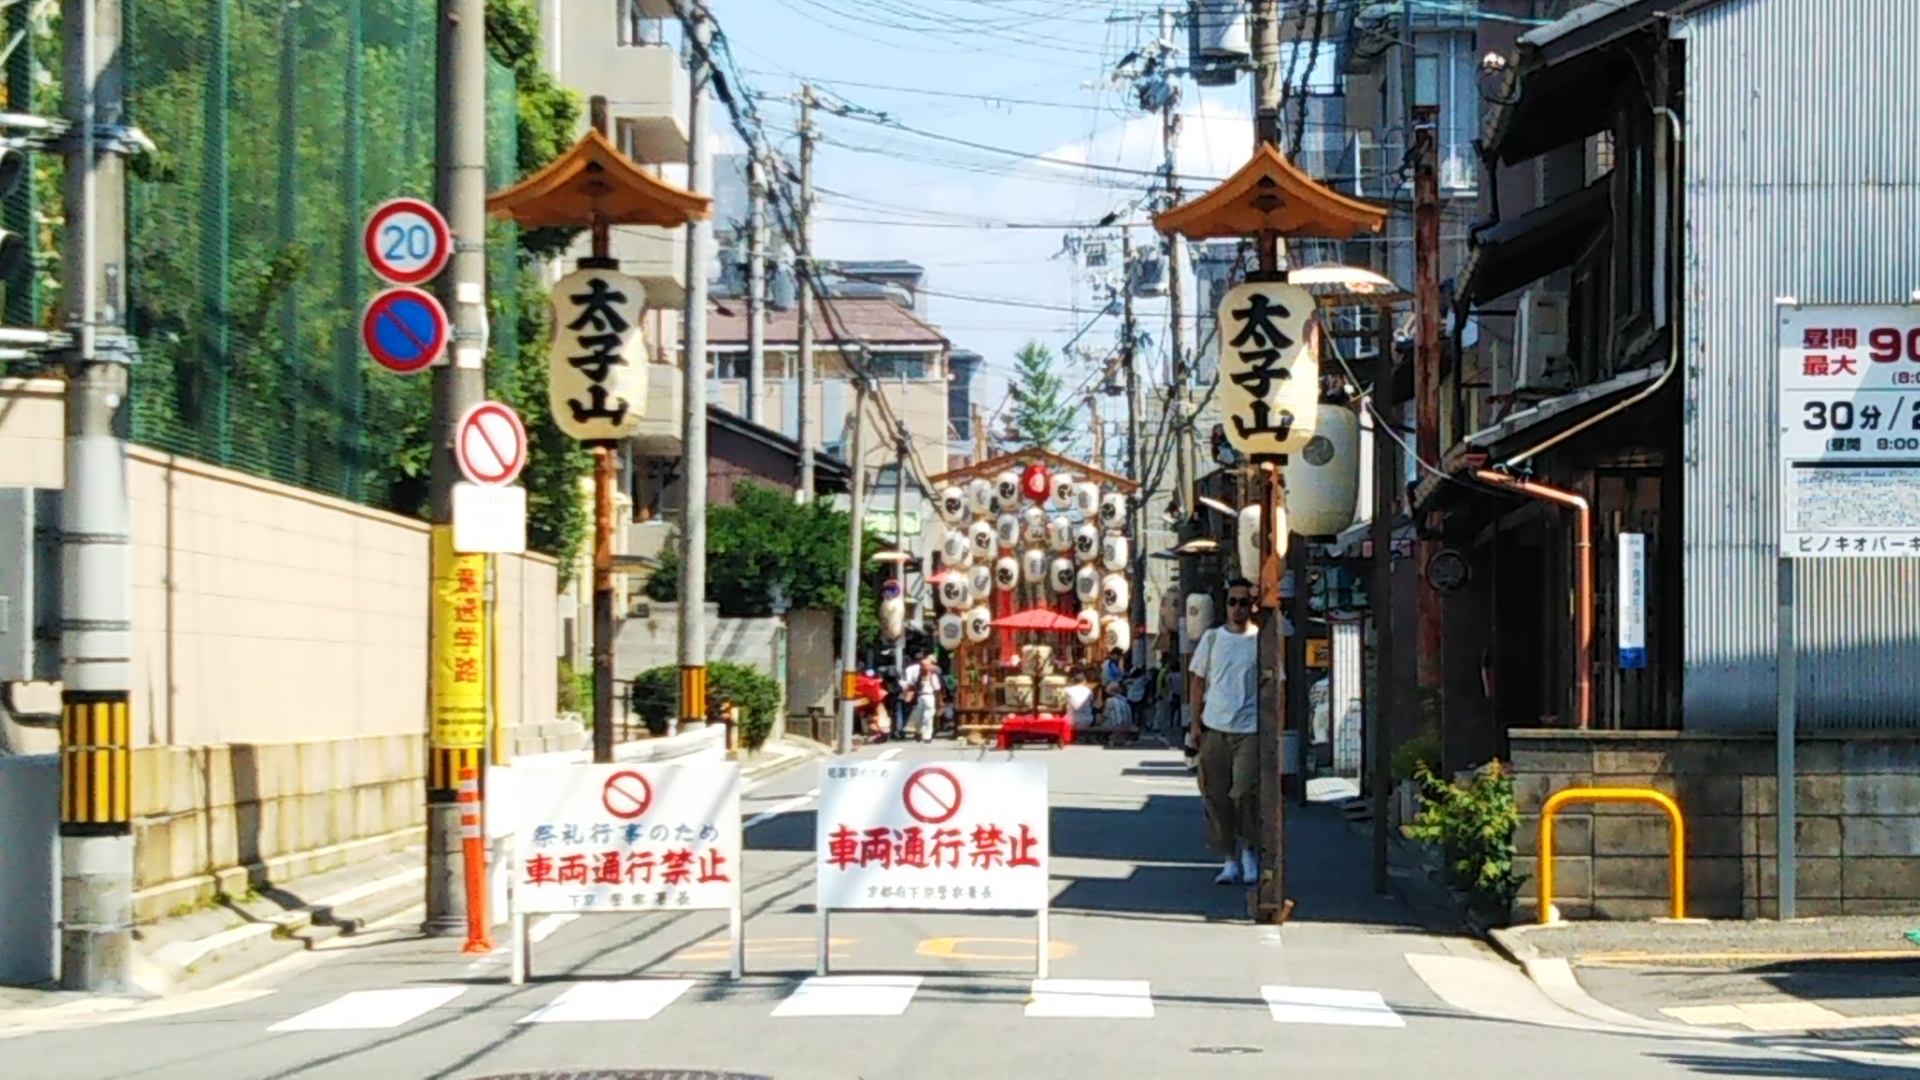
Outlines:
[[[1413, 450], [1421, 461], [1440, 459], [1440, 110], [1413, 106]], [[1425, 534], [1427, 530], [1421, 528]], [[1440, 542], [1419, 542], [1419, 586], [1415, 592], [1419, 701], [1415, 713], [1421, 724], [1440, 736], [1442, 763], [1452, 769], [1455, 751], [1446, 738], [1446, 703], [1442, 698], [1442, 600], [1427, 580], [1427, 563], [1438, 553]]]

